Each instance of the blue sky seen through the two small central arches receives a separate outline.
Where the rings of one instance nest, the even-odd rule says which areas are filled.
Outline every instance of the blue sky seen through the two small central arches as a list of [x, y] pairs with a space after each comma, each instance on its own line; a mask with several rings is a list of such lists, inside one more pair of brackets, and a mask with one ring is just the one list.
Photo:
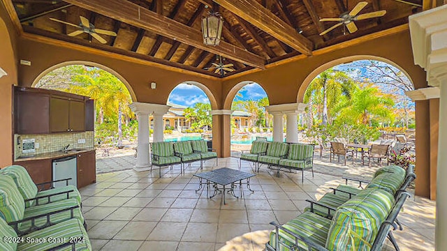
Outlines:
[[[236, 97], [235, 100], [259, 100], [267, 96], [264, 89], [256, 83], [247, 84], [240, 89], [242, 97]], [[205, 92], [192, 84], [179, 84], [171, 91], [168, 102], [175, 105], [184, 105], [192, 107], [198, 102], [210, 103]]]

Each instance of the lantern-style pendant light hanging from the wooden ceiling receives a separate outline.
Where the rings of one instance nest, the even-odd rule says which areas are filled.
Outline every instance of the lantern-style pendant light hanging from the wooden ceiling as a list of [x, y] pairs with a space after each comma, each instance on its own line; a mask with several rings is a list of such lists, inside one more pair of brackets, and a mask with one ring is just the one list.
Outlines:
[[210, 12], [202, 18], [203, 43], [217, 46], [221, 42], [223, 20], [219, 13]]

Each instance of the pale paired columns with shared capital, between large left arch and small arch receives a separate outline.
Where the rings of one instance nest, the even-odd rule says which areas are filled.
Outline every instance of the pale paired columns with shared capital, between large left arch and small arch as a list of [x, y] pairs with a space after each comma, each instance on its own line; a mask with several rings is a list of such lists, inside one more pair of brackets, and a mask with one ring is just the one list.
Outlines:
[[[168, 112], [170, 107], [167, 105], [148, 104], [142, 102], [133, 102], [129, 105], [129, 107], [131, 108], [132, 112], [135, 112], [138, 115], [138, 154], [137, 162], [133, 169], [137, 172], [147, 171], [150, 167], [149, 114], [154, 112], [162, 113], [163, 111]], [[163, 126], [163, 115], [161, 116], [161, 123]], [[163, 140], [163, 130], [161, 130], [161, 140]]]

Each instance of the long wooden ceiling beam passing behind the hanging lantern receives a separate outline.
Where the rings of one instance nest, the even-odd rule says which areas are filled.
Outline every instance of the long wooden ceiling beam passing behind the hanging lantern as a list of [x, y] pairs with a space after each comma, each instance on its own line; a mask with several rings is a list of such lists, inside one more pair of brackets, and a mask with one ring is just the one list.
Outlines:
[[249, 66], [265, 68], [265, 60], [261, 56], [223, 41], [218, 46], [207, 46], [203, 43], [200, 31], [126, 0], [109, 0], [107, 4], [102, 0], [66, 0], [66, 2]]

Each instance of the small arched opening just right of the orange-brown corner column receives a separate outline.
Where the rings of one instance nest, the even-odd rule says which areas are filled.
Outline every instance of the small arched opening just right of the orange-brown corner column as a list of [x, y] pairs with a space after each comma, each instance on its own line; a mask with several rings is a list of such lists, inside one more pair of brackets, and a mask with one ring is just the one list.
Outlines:
[[239, 89], [231, 102], [230, 143], [232, 151], [242, 151], [250, 149], [257, 137], [272, 139], [272, 116], [265, 109], [269, 100], [260, 84], [247, 81], [236, 86]]

